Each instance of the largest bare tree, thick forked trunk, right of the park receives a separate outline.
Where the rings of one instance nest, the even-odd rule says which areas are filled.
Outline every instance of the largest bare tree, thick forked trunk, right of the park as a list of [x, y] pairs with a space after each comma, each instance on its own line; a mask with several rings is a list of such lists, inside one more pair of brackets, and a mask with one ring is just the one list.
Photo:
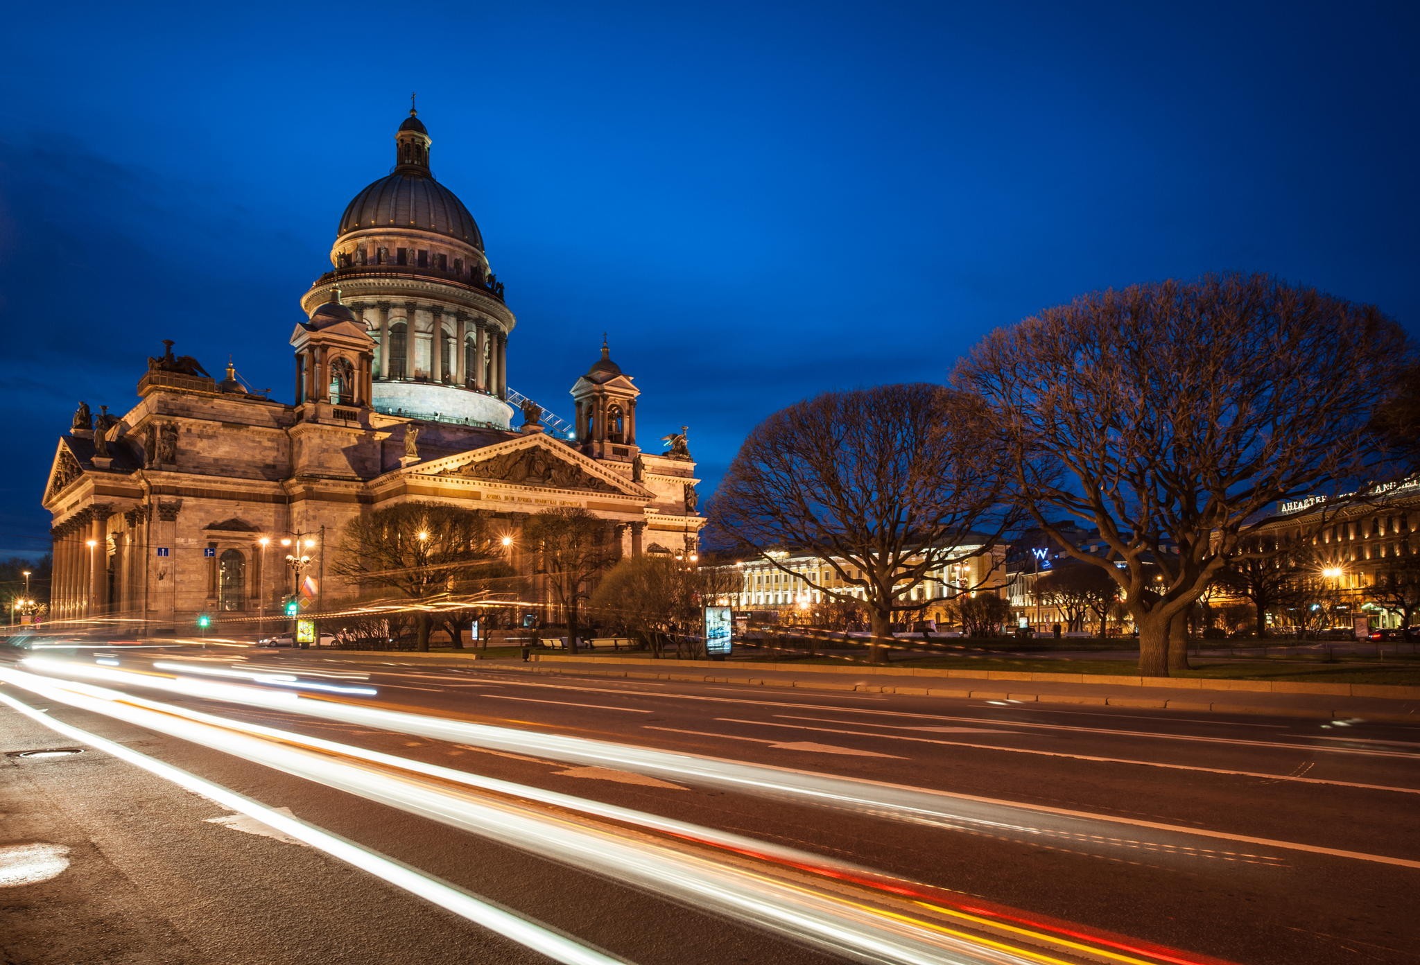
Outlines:
[[991, 407], [1037, 524], [1074, 515], [1125, 562], [1058, 539], [1119, 582], [1140, 673], [1167, 676], [1187, 667], [1189, 607], [1264, 509], [1372, 478], [1367, 424], [1407, 355], [1375, 308], [1227, 275], [1051, 308], [987, 336], [954, 383]]

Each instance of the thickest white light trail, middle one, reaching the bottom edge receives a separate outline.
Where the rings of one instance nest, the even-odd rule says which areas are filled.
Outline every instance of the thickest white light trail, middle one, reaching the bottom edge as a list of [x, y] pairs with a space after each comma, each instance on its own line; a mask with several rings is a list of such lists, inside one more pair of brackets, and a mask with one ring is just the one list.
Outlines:
[[[264, 766], [280, 769], [329, 788], [359, 795], [369, 800], [399, 807], [452, 827], [466, 830], [500, 844], [531, 851], [554, 861], [572, 864], [595, 874], [608, 876], [629, 886], [666, 895], [692, 907], [748, 921], [791, 939], [869, 962], [902, 962], [903, 965], [1071, 965], [1079, 956], [1075, 951], [1095, 949], [1075, 942], [1061, 958], [1041, 944], [1059, 942], [1049, 934], [1017, 928], [1017, 935], [980, 935], [913, 917], [900, 911], [865, 904], [859, 894], [835, 894], [822, 887], [809, 887], [792, 880], [777, 880], [763, 871], [728, 864], [723, 859], [707, 859], [677, 850], [663, 843], [636, 840], [626, 829], [578, 825], [564, 817], [531, 813], [517, 802], [493, 800], [450, 789], [442, 783], [422, 781], [410, 772], [422, 772], [442, 781], [480, 785], [518, 798], [540, 798], [548, 803], [569, 806], [628, 823], [655, 825], [659, 830], [690, 842], [717, 840], [724, 850], [755, 854], [761, 859], [778, 856], [790, 867], [814, 867], [822, 863], [808, 854], [782, 847], [765, 847], [748, 839], [713, 832], [672, 819], [586, 802], [569, 795], [545, 792], [510, 782], [477, 778], [437, 765], [395, 758], [354, 748], [321, 738], [244, 724], [227, 718], [200, 714], [183, 708], [133, 700], [121, 691], [82, 683], [51, 681], [24, 673], [7, 673], [9, 683], [41, 697], [61, 701], [87, 711], [115, 717], [139, 727], [155, 729], [185, 741], [192, 741]], [[18, 704], [18, 701], [9, 701]], [[179, 717], [180, 715], [180, 717]], [[277, 742], [280, 741], [280, 742]], [[307, 749], [311, 748], [311, 749]], [[348, 758], [364, 759], [355, 763]], [[378, 763], [382, 766], [369, 766]], [[254, 815], [266, 820], [260, 815]], [[283, 829], [284, 830], [284, 829]], [[851, 866], [841, 866], [851, 868]], [[849, 874], [835, 874], [839, 881]], [[865, 873], [856, 873], [866, 883]], [[861, 890], [855, 890], [861, 891]], [[890, 894], [879, 890], [878, 897]], [[917, 903], [923, 910], [930, 908]], [[990, 922], [983, 920], [990, 927]], [[1021, 941], [1030, 938], [1031, 945]], [[1125, 965], [1152, 965], [1159, 959], [1122, 956], [1105, 952], [1103, 958]], [[1197, 962], [1198, 959], [1176, 959]]]

